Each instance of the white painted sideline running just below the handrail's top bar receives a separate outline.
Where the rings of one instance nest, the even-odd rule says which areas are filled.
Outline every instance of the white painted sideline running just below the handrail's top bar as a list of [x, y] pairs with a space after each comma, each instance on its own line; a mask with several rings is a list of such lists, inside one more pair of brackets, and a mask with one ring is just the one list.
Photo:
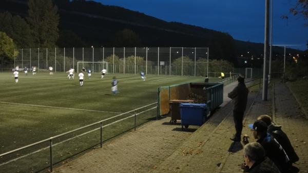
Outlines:
[[[157, 106], [156, 106], [156, 107], [157, 107]], [[152, 107], [151, 109], [148, 109], [148, 110], [146, 110], [146, 111], [140, 112], [140, 113], [136, 114], [136, 116], [139, 115], [139, 114], [145, 113], [145, 112], [147, 112], [147, 111], [156, 109], [156, 107]], [[107, 126], [109, 126], [109, 125], [111, 125], [111, 124], [114, 124], [114, 123], [123, 121], [123, 120], [125, 120], [125, 119], [131, 118], [131, 117], [133, 117], [133, 116], [134, 116], [134, 115], [131, 115], [131, 116], [128, 116], [128, 117], [126, 117], [126, 118], [123, 118], [123, 119], [120, 119], [120, 120], [111, 122], [111, 123], [109, 123], [109, 124], [106, 124], [106, 125], [102, 126], [102, 128], [103, 128], [103, 127], [107, 127]], [[115, 117], [116, 117], [116, 116], [115, 116]], [[74, 139], [74, 138], [78, 138], [78, 137], [83, 136], [83, 135], [86, 135], [86, 134], [88, 134], [88, 133], [97, 131], [97, 130], [100, 129], [100, 128], [101, 128], [101, 127], [99, 127], [99, 128], [94, 128], [94, 129], [92, 129], [91, 131], [85, 132], [85, 133], [83, 133], [83, 134], [74, 136], [74, 137], [72, 137], [72, 138], [66, 139], [66, 140], [61, 141], [61, 142], [58, 142], [58, 143], [55, 143], [55, 144], [53, 144], [52, 146], [56, 146], [56, 145], [59, 145], [59, 144], [61, 144], [61, 143], [66, 142], [66, 141], [72, 140], [72, 139]], [[5, 162], [5, 163], [1, 163], [0, 166], [6, 165], [6, 164], [8, 164], [8, 163], [10, 163], [10, 162], [13, 162], [13, 161], [16, 161], [16, 160], [19, 160], [19, 159], [22, 159], [22, 158], [27, 157], [27, 156], [29, 156], [29, 155], [35, 154], [35, 153], [37, 153], [37, 152], [41, 152], [42, 150], [45, 150], [45, 149], [48, 149], [48, 148], [49, 148], [49, 146], [47, 146], [47, 147], [45, 147], [45, 148], [38, 149], [38, 150], [36, 150], [35, 152], [32, 152], [32, 153], [26, 154], [26, 155], [24, 155], [24, 156], [21, 156], [21, 157], [18, 157], [18, 158], [9, 160], [9, 161], [7, 161], [7, 162]]]

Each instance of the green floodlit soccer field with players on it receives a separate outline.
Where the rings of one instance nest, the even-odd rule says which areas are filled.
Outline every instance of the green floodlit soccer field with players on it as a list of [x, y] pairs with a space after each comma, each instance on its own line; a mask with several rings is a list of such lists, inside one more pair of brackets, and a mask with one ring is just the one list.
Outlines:
[[[110, 90], [113, 76], [119, 79], [120, 93], [116, 96]], [[154, 103], [160, 86], [204, 81], [204, 77], [165, 75], [149, 75], [143, 81], [138, 74], [107, 74], [100, 78], [100, 74], [92, 74], [88, 79], [85, 74], [81, 87], [78, 74], [69, 80], [67, 73], [26, 76], [21, 72], [15, 83], [12, 73], [0, 73], [0, 154]], [[147, 119], [153, 118], [156, 110], [148, 114], [152, 115]], [[131, 125], [132, 121], [114, 125], [110, 132], [105, 129], [104, 139], [116, 135], [117, 128], [132, 127], [126, 123]]]

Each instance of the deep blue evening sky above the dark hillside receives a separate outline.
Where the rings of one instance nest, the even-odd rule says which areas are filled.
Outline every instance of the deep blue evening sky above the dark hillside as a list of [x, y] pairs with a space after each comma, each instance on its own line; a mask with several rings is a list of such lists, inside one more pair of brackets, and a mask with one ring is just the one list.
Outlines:
[[[261, 0], [95, 0], [104, 5], [124, 7], [166, 21], [227, 32], [235, 39], [264, 43], [264, 9]], [[305, 50], [308, 26], [302, 16], [289, 9], [296, 0], [273, 0], [273, 45], [300, 45]], [[281, 16], [288, 15], [288, 19]]]

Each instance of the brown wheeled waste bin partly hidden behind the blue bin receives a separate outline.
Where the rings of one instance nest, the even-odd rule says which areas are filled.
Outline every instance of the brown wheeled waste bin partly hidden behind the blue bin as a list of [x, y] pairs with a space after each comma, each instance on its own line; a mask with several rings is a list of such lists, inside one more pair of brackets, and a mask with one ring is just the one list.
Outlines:
[[171, 120], [169, 123], [176, 123], [177, 120], [181, 119], [181, 112], [180, 112], [180, 107], [179, 105], [181, 103], [191, 103], [194, 102], [194, 100], [170, 100], [169, 105], [170, 105], [170, 117]]

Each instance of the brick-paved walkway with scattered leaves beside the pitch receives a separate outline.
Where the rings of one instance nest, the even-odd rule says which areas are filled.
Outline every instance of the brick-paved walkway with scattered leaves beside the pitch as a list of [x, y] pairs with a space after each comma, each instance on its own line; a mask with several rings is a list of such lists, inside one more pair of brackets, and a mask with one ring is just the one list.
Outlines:
[[[235, 85], [224, 87], [224, 93]], [[275, 122], [283, 126], [300, 157], [296, 166], [300, 172], [308, 172], [308, 121], [300, 114], [290, 90], [277, 83], [275, 92], [269, 90], [268, 101], [261, 97], [261, 92], [249, 93], [244, 126], [261, 114], [274, 112]], [[169, 120], [166, 117], [147, 123], [136, 132], [55, 168], [54, 172], [242, 172], [243, 146], [229, 140], [235, 132], [229, 101], [201, 127], [189, 126], [182, 131], [180, 123], [171, 125]], [[252, 136], [247, 127], [243, 134]], [[249, 141], [255, 140], [251, 137]]]

